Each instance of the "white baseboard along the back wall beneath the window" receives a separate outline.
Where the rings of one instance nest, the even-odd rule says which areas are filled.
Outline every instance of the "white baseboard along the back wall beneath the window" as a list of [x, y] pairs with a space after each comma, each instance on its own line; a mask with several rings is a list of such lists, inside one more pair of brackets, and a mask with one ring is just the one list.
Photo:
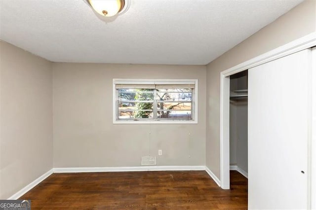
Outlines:
[[54, 170], [54, 173], [204, 171], [205, 166], [78, 167], [78, 168], [54, 168], [53, 170]]

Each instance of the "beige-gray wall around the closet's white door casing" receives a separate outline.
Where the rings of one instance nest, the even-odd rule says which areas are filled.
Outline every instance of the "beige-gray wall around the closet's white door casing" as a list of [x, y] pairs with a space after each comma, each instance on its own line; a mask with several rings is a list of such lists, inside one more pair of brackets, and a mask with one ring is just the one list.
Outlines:
[[220, 177], [220, 72], [316, 31], [316, 1], [306, 0], [207, 65], [206, 166]]

